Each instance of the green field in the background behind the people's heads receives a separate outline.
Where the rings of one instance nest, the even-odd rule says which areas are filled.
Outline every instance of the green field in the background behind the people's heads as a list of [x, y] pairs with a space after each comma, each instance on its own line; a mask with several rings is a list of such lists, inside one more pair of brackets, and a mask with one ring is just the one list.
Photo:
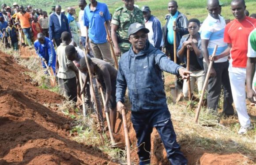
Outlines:
[[[108, 4], [109, 12], [112, 14], [114, 13], [117, 7], [123, 5], [123, 2], [121, 0], [102, 0], [99, 2]], [[169, 14], [169, 11], [167, 10], [168, 2], [169, 0], [136, 0], [135, 4], [139, 7], [142, 7], [143, 5], [149, 6], [151, 8], [152, 14], [155, 15], [162, 22], [162, 24], [164, 24], [164, 17], [166, 14]], [[207, 17], [207, 0], [177, 0], [177, 2], [179, 6], [178, 10], [181, 11], [184, 15], [186, 15], [188, 19], [198, 18], [200, 21], [203, 21]], [[230, 11], [230, 2], [231, 0], [222, 0], [222, 16], [224, 16], [226, 19], [233, 19], [233, 15]], [[247, 5], [247, 10], [250, 12], [250, 14], [256, 13], [256, 0], [245, 0], [245, 2]], [[80, 10], [77, 1], [60, 3], [60, 5], [63, 9], [71, 6], [76, 7], [77, 11]], [[45, 7], [43, 9], [49, 11], [50, 7]]]

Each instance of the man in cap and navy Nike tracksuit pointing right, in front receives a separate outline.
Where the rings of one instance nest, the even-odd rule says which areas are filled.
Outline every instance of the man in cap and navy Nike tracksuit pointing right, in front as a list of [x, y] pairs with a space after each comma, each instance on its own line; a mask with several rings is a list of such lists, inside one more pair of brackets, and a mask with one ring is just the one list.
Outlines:
[[138, 139], [139, 165], [150, 164], [151, 132], [155, 127], [166, 148], [172, 165], [186, 165], [187, 159], [176, 141], [163, 88], [162, 70], [189, 78], [191, 72], [169, 60], [162, 51], [147, 41], [149, 30], [142, 24], [133, 23], [128, 29], [132, 44], [119, 61], [117, 73], [117, 110], [126, 109], [124, 96], [128, 88], [132, 104], [132, 125]]

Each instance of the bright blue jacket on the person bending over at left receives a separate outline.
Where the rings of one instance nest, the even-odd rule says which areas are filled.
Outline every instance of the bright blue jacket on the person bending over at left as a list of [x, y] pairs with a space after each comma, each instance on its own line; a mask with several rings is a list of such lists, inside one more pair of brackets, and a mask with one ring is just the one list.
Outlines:
[[[36, 40], [34, 42], [34, 47], [36, 49], [37, 55], [40, 58], [43, 57], [47, 61], [48, 65], [52, 64], [52, 66], [55, 66], [56, 65], [56, 52], [54, 50], [53, 42], [49, 38], [45, 37], [44, 45], [45, 46], [43, 47], [38, 40]], [[46, 67], [44, 62], [42, 62], [42, 65], [44, 67]]]

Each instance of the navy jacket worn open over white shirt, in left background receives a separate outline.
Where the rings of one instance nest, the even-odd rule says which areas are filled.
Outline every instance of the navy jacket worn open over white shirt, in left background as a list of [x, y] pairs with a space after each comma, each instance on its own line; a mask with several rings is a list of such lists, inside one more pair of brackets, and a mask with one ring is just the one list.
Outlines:
[[62, 32], [70, 32], [69, 25], [68, 25], [68, 18], [66, 15], [61, 13], [61, 26], [59, 23], [59, 18], [54, 12], [50, 15], [49, 18], [49, 38], [53, 40], [54, 38], [60, 39]]

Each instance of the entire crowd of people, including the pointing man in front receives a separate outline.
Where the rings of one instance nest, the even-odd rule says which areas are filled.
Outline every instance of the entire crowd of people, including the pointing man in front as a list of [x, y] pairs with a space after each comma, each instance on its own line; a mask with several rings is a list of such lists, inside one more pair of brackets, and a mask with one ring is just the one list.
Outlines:
[[[218, 0], [207, 0], [208, 15], [203, 22], [197, 18], [188, 20], [178, 11], [177, 2], [171, 0], [167, 4], [169, 14], [165, 16], [164, 26], [151, 14], [150, 7], [139, 8], [134, 0], [123, 0], [124, 5], [114, 11], [113, 17], [106, 4], [89, 1], [88, 5], [85, 0], [78, 1], [78, 18], [73, 7], [68, 7], [65, 15], [60, 5], [52, 6], [48, 16], [46, 11], [30, 5], [2, 4], [2, 42], [14, 50], [18, 50], [19, 40], [20, 46], [28, 45], [30, 49], [34, 43], [42, 66], [52, 67], [62, 93], [74, 102], [84, 93], [86, 107], [91, 107], [95, 113], [95, 101], [100, 100], [98, 89], [103, 88], [104, 112], [110, 112], [114, 133], [117, 111], [126, 109], [124, 101], [128, 89], [140, 165], [150, 163], [153, 127], [161, 136], [169, 161], [173, 165], [187, 164], [170, 119], [163, 71], [184, 79], [182, 92], [186, 98], [189, 95], [186, 79], [190, 79], [192, 93], [197, 81], [200, 94], [209, 63], [214, 61], [209, 70], [207, 108], [217, 114], [223, 89], [222, 114], [233, 116], [234, 103], [241, 125], [238, 134], [253, 128], [246, 108], [245, 82], [247, 97], [255, 103], [256, 14], [249, 16], [245, 0], [232, 0], [232, 21], [221, 15], [222, 5]], [[108, 40], [108, 32], [112, 40]], [[119, 60], [118, 69], [111, 56], [111, 44], [113, 55]], [[212, 56], [215, 45], [218, 48]], [[87, 55], [83, 49], [87, 50]], [[177, 51], [177, 64], [173, 62], [174, 51]], [[88, 81], [89, 69], [93, 74], [92, 84]], [[77, 83], [79, 72], [84, 82], [81, 88]], [[96, 100], [92, 99], [94, 94]], [[99, 110], [101, 127], [104, 118], [102, 108]]]

